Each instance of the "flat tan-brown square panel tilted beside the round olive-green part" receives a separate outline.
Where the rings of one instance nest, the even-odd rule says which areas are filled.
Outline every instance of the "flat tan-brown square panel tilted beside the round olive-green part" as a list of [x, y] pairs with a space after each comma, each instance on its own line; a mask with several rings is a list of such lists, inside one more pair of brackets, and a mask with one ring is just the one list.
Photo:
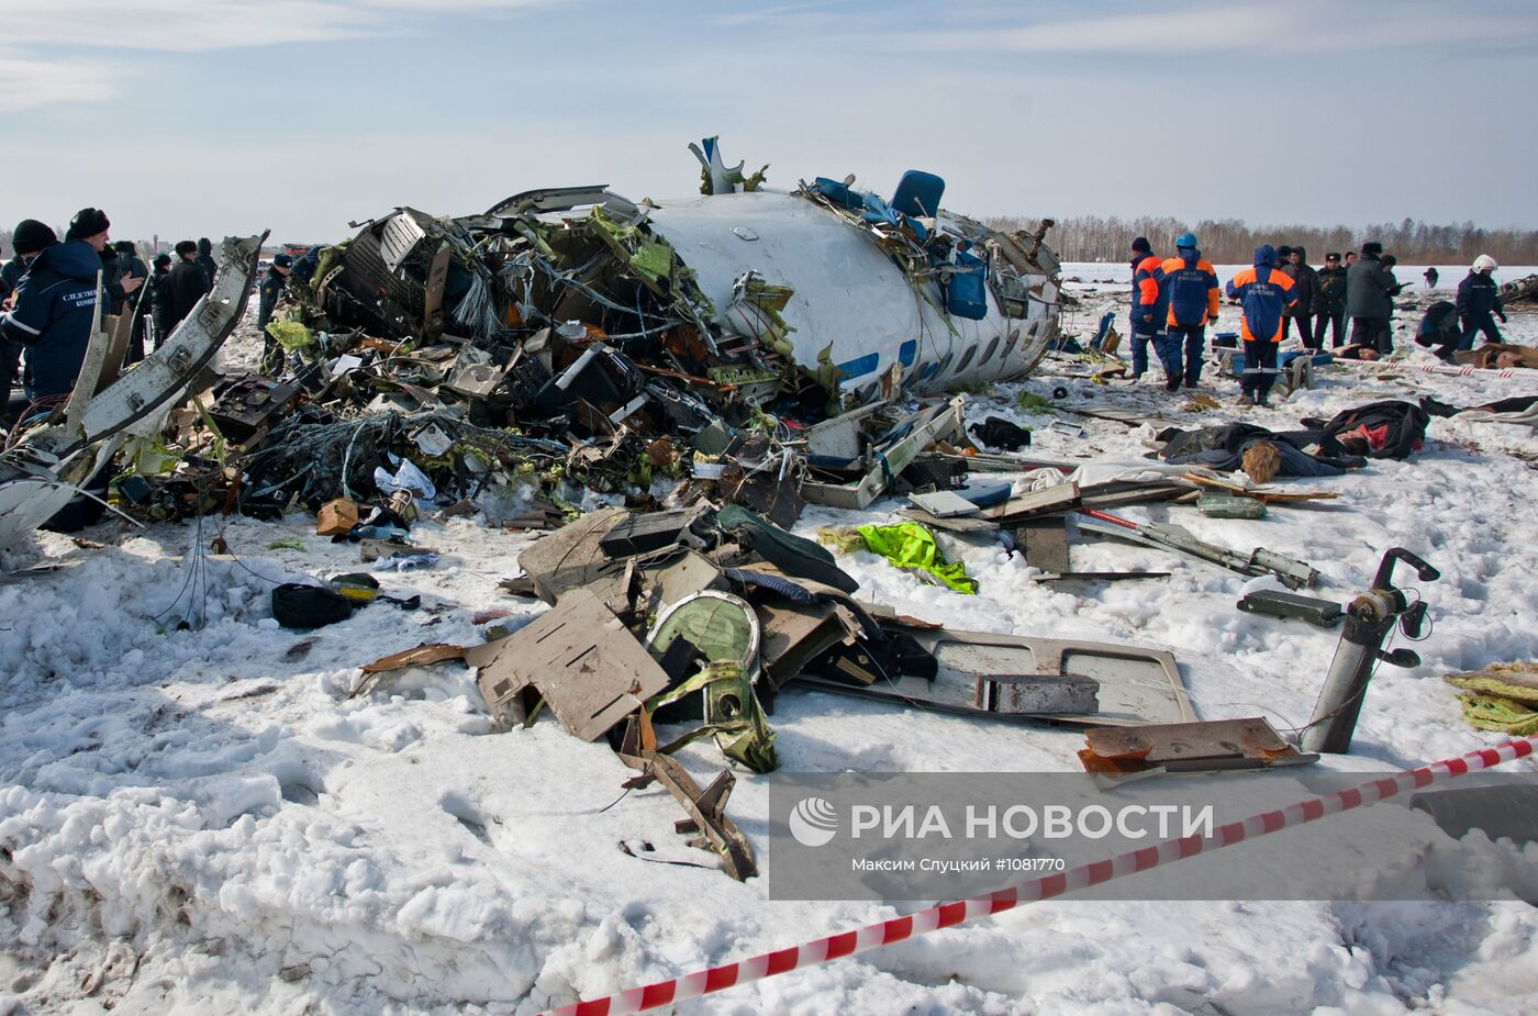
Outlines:
[[521, 722], [529, 689], [566, 730], [595, 741], [667, 687], [667, 675], [609, 607], [574, 590], [528, 626], [466, 652], [477, 686], [501, 722]]

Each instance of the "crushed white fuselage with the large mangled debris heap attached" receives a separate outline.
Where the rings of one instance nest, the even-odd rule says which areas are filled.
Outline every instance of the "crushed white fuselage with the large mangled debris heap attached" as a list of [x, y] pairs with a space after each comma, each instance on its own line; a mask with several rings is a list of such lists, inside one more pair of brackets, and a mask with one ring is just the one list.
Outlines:
[[563, 510], [581, 487], [655, 507], [672, 478], [789, 524], [803, 500], [863, 507], [937, 441], [964, 441], [960, 400], [924, 398], [1024, 375], [1057, 334], [1050, 220], [989, 229], [917, 171], [891, 200], [852, 177], [769, 191], [715, 138], [691, 149], [692, 198], [561, 188], [354, 223], [301, 260], [260, 375], [203, 370], [261, 241], [226, 240], [215, 292], [145, 363], [102, 384], [92, 364], [120, 358], [103, 332], [94, 380], [18, 424], [0, 541], [125, 444], [114, 507], [141, 520], [366, 501], [388, 493], [375, 470], [411, 460], [477, 504], [532, 484], [524, 507]]

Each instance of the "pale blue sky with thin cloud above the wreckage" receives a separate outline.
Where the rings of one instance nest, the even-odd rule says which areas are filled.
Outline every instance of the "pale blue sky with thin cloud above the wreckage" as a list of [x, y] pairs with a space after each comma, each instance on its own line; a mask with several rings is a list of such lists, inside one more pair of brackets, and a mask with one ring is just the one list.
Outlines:
[[1538, 227], [1535, 72], [1532, 0], [0, 0], [0, 221], [335, 240], [720, 134], [972, 215]]

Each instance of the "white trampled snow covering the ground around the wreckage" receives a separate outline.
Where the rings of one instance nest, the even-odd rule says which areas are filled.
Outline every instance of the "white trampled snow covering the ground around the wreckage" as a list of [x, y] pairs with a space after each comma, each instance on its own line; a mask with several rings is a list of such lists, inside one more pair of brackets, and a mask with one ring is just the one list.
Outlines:
[[[1069, 266], [1086, 280], [1114, 266]], [[1418, 271], [1401, 272], [1418, 278]], [[1504, 275], [1503, 277], [1510, 277]], [[1444, 283], [1455, 283], [1444, 274]], [[1121, 306], [1121, 289], [1077, 286], [1080, 326]], [[1226, 309], [1232, 315], [1232, 309]], [[1538, 341], [1538, 314], [1509, 337]], [[232, 363], [252, 360], [243, 332]], [[1410, 364], [1426, 363], [1418, 349]], [[1190, 424], [1238, 418], [1237, 384], [1209, 377], [1223, 409], [1190, 413], [1155, 381], [1097, 386], [1078, 364], [974, 398], [969, 418], [1037, 427], [1041, 455], [1126, 460], [1140, 435], [1014, 407], [1020, 390], [1109, 400]], [[1157, 372], [1155, 372], [1157, 374]], [[1150, 375], [1152, 377], [1152, 375]], [[1249, 418], [1298, 417], [1433, 393], [1473, 404], [1538, 392], [1538, 378], [1443, 377], [1380, 366], [1321, 370], [1320, 384]], [[1067, 418], [1067, 417], [1064, 417]], [[1440, 676], [1538, 656], [1538, 440], [1526, 427], [1433, 420], [1426, 450], [1341, 480], [1326, 507], [1223, 521], [1189, 507], [1127, 509], [1235, 547], [1304, 558], [1320, 595], [1364, 587], [1386, 547], [1443, 570], [1423, 589], [1435, 629], [1424, 666], [1384, 667], [1353, 755], [1384, 769], [1496, 738], [1460, 718]], [[880, 520], [811, 510], [811, 532]], [[478, 520], [420, 524], [437, 567], [381, 575], [403, 612], [372, 604], [312, 633], [271, 616], [272, 583], [357, 570], [357, 549], [314, 535], [305, 515], [135, 530], [105, 523], [77, 547], [38, 533], [5, 564], [60, 564], [0, 584], [0, 1016], [18, 1013], [535, 1013], [766, 948], [892, 916], [871, 904], [771, 902], [764, 879], [649, 864], [621, 841], [681, 848], [672, 798], [621, 801], [629, 775], [604, 744], [551, 722], [491, 733], [472, 673], [417, 669], [351, 695], [358, 666], [418, 642], [474, 642], [477, 612], [523, 606], [497, 590], [528, 536]], [[221, 535], [238, 559], [183, 564]], [[303, 550], [271, 549], [298, 540]], [[1335, 635], [1240, 613], [1244, 581], [1217, 567], [1117, 543], [1081, 541], [1081, 570], [1157, 567], [1161, 581], [1038, 584], [997, 544], [946, 541], [977, 596], [920, 584], [869, 553], [841, 564], [861, 596], [955, 627], [1124, 639], [1170, 649], [1203, 718], [1263, 713], [1303, 724]], [[189, 558], [191, 559], [191, 558]], [[181, 621], [191, 621], [181, 626]], [[787, 770], [1077, 770], [1066, 729], [787, 692], [772, 718]], [[681, 755], [697, 776], [712, 745]], [[1530, 769], [1530, 767], [1529, 767]], [[612, 807], [609, 807], [612, 805]], [[738, 775], [731, 815], [760, 850], [761, 781]], [[680, 1013], [1530, 1013], [1538, 1008], [1538, 910], [1461, 904], [1075, 902], [1061, 899], [795, 971], [678, 1007]]]

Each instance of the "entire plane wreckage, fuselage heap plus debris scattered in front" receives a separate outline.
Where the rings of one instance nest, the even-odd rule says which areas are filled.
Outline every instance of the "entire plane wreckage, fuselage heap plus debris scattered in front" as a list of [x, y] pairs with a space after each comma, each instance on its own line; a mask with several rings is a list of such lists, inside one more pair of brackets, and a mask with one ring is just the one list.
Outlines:
[[[755, 865], [724, 815], [734, 776], [701, 789], [671, 752], [712, 738], [752, 772], [775, 769], [769, 716], [787, 690], [1078, 724], [1084, 765], [1110, 776], [1344, 750], [1377, 646], [1424, 616], [1393, 587], [1392, 561], [1343, 607], [1297, 592], [1318, 578], [1303, 561], [1114, 512], [1187, 503], [1255, 518], [1333, 496], [1215, 470], [1243, 463], [1253, 476], [1255, 458], [1272, 475], [1330, 475], [1361, 455], [1403, 457], [1424, 437], [1424, 410], [1375, 404], [1301, 435], [1166, 430], [1163, 463], [1109, 469], [1018, 453], [1029, 432], [1001, 418], [969, 437], [966, 400], [949, 392], [1027, 374], [1057, 335], [1050, 221], [1029, 235], [987, 229], [940, 211], [943, 181], [920, 172], [891, 201], [851, 180], [769, 192], [763, 171], [726, 168], [714, 138], [695, 151], [700, 198], [635, 204], [574, 188], [466, 218], [397, 209], [358, 224], [295, 272], [268, 327], [265, 375], [211, 370], [265, 235], [226, 240], [214, 292], [160, 347], [118, 377], [126, 330], [98, 330], [68, 404], [9, 435], [0, 546], [103, 475], [114, 509], [141, 521], [315, 512], [317, 532], [357, 543], [374, 570], [435, 561], [411, 532], [428, 504], [554, 530], [504, 583], [551, 610], [494, 626], [480, 646], [368, 664], [355, 693], [403, 667], [464, 661], [501, 724], [548, 707], [574, 736], [609, 738], [640, 770], [632, 782], [664, 784], [689, 815], [680, 828], [737, 878]], [[1024, 478], [986, 481], [1000, 472]], [[614, 507], [583, 513], [594, 495]], [[900, 520], [820, 540], [958, 593], [977, 583], [946, 561], [937, 532], [1004, 541], [1041, 581], [1161, 575], [1075, 572], [1070, 533], [1275, 576], [1295, 592], [1252, 593], [1240, 609], [1346, 626], [1304, 752], [1260, 718], [1198, 722], [1167, 652], [941, 629], [852, 598], [858, 586], [827, 547], [789, 532], [807, 503], [864, 509], [904, 495]], [[274, 616], [295, 629], [371, 599], [381, 596], [368, 573], [272, 593]], [[1404, 653], [1384, 658], [1410, 666]], [[658, 725], [681, 732], [660, 744]]]

